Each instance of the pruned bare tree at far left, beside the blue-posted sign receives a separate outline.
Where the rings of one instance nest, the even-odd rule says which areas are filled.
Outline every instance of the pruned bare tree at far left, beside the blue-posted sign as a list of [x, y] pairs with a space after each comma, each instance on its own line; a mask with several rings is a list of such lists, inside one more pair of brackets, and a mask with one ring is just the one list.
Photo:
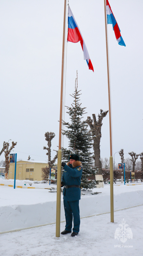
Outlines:
[[9, 171], [9, 166], [10, 166], [10, 161], [9, 161], [9, 154], [11, 150], [16, 146], [17, 142], [12, 141], [12, 145], [9, 149], [9, 143], [4, 141], [4, 155], [5, 155], [5, 174], [4, 174], [4, 179], [8, 178], [8, 171]]

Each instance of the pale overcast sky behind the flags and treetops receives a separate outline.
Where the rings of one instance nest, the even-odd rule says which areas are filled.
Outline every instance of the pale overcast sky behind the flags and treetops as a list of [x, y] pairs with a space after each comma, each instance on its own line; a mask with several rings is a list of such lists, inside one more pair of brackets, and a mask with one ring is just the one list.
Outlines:
[[[114, 157], [121, 148], [125, 153], [143, 151], [143, 1], [109, 3], [126, 44], [118, 45], [112, 25], [108, 25]], [[78, 70], [86, 120], [93, 113], [97, 116], [101, 108], [109, 109], [104, 0], [70, 0], [69, 5], [94, 73], [83, 60], [80, 42], [69, 42], [65, 105], [70, 106], [73, 101], [69, 94], [74, 92]], [[47, 131], [56, 134], [52, 157], [59, 144], [63, 12], [64, 0], [0, 1], [0, 145], [2, 148], [3, 141], [9, 139], [17, 141], [14, 152], [18, 159], [26, 160], [30, 155], [34, 160], [46, 160], [43, 146]], [[68, 120], [66, 114], [65, 121]], [[68, 147], [66, 139], [64, 147]], [[109, 114], [103, 120], [100, 148], [101, 157], [109, 158]], [[129, 155], [125, 154], [126, 157]], [[115, 162], [120, 163], [118, 153]]]

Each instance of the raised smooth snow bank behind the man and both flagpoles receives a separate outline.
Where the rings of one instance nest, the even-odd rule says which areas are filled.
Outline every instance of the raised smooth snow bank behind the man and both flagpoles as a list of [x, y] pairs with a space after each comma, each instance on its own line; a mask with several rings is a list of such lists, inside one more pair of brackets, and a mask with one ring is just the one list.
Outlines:
[[[80, 216], [110, 212], [110, 185], [95, 188], [97, 195], [81, 196]], [[114, 186], [114, 210], [143, 202], [143, 186]], [[56, 221], [56, 193], [48, 189], [22, 189], [0, 186], [0, 232], [29, 228]], [[65, 220], [61, 195], [61, 221]]]

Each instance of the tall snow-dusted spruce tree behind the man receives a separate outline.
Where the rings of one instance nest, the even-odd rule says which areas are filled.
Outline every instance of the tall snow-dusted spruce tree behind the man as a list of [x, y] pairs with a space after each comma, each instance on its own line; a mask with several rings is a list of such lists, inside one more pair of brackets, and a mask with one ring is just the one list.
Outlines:
[[68, 114], [70, 116], [70, 123], [65, 125], [68, 128], [64, 132], [66, 137], [69, 139], [69, 149], [73, 154], [77, 154], [82, 162], [82, 179], [81, 188], [95, 188], [95, 180], [90, 180], [91, 176], [95, 174], [95, 168], [93, 167], [93, 157], [90, 152], [92, 148], [92, 137], [91, 132], [87, 129], [88, 124], [82, 121], [85, 113], [85, 108], [81, 107], [80, 95], [81, 90], [78, 91], [77, 78], [75, 79], [75, 92], [71, 95], [74, 98], [74, 102], [71, 107], [68, 108]]

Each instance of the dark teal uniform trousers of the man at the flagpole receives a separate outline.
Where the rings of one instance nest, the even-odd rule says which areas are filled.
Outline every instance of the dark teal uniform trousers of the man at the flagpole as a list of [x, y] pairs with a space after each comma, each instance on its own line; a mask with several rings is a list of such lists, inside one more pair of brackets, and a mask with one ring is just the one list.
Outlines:
[[79, 232], [80, 215], [79, 215], [79, 200], [76, 201], [64, 201], [66, 228], [69, 232], [72, 231], [72, 221], [74, 219], [73, 232]]

